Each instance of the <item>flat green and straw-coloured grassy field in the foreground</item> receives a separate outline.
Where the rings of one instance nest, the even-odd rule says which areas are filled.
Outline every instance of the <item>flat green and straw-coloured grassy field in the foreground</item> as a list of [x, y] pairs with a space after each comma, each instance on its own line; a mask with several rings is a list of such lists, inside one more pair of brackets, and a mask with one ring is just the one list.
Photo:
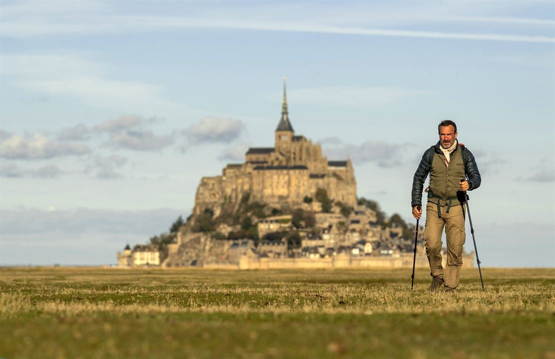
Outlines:
[[555, 359], [555, 269], [0, 269], [1, 358]]

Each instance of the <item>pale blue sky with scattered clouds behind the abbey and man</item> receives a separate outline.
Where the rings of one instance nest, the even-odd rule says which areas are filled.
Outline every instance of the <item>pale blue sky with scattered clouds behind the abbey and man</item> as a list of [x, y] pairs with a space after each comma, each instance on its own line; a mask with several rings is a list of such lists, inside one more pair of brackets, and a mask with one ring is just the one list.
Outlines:
[[555, 266], [555, 2], [30, 0], [0, 2], [0, 265], [115, 264], [167, 231], [273, 146], [284, 75], [295, 133], [409, 222], [455, 121], [482, 266]]

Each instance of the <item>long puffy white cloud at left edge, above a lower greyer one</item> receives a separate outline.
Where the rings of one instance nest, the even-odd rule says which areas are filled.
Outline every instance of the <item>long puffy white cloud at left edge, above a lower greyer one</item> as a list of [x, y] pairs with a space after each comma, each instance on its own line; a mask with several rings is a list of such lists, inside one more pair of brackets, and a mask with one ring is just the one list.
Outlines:
[[0, 144], [0, 158], [6, 159], [47, 159], [83, 155], [89, 151], [87, 145], [56, 143], [40, 133], [35, 133], [33, 136], [12, 134]]

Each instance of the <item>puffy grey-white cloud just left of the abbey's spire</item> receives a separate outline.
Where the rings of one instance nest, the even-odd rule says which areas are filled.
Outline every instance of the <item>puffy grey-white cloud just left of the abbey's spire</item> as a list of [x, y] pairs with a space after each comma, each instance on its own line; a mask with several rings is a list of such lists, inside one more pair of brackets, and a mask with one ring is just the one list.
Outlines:
[[239, 138], [245, 125], [231, 118], [205, 117], [199, 124], [191, 125], [183, 133], [190, 144], [230, 143]]

